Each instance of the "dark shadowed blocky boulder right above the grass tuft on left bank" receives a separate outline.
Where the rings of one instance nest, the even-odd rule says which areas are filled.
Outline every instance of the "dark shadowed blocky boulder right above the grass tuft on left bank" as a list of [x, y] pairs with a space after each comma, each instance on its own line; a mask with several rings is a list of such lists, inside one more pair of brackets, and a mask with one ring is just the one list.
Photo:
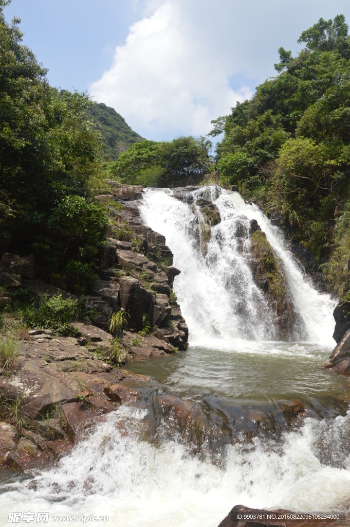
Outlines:
[[143, 315], [152, 324], [154, 296], [145, 289], [136, 278], [125, 276], [119, 289], [121, 307], [128, 314], [128, 326], [136, 329], [143, 327]]

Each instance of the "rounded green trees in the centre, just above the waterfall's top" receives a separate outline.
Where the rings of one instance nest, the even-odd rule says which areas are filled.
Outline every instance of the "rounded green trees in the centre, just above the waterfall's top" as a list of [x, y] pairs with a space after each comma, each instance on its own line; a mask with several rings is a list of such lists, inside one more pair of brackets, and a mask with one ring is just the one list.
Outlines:
[[111, 172], [124, 183], [144, 187], [175, 185], [208, 170], [211, 142], [192, 136], [173, 141], [139, 141], [111, 163]]

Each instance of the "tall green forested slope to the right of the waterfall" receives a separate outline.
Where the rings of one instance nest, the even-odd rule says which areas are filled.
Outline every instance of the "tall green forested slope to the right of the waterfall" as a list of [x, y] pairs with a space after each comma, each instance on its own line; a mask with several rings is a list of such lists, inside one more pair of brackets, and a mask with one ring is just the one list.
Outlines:
[[329, 287], [349, 289], [350, 37], [343, 15], [318, 23], [293, 57], [279, 48], [278, 75], [213, 121], [217, 169], [314, 255]]

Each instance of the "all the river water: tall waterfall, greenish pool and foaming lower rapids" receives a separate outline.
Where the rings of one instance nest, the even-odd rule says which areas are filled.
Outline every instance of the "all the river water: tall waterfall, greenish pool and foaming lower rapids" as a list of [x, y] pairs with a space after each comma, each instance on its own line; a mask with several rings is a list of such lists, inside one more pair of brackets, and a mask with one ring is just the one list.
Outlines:
[[[188, 350], [129, 365], [159, 387], [145, 392], [138, 406], [106, 416], [55, 469], [33, 475], [34, 482], [1, 480], [0, 473], [1, 525], [8, 511], [109, 516], [86, 522], [96, 526], [216, 527], [238, 503], [350, 509], [348, 386], [319, 368], [334, 345], [331, 299], [313, 288], [279, 229], [256, 206], [216, 187], [192, 194], [190, 205], [171, 190], [147, 189], [141, 206], [146, 225], [166, 236], [181, 269], [174, 290], [189, 327]], [[204, 240], [198, 242], [200, 196], [221, 214], [205, 251]], [[242, 248], [236, 234], [238, 223], [248, 228], [252, 219], [283, 265], [303, 341], [276, 340], [273, 313], [247, 265], [249, 239]], [[201, 405], [208, 428], [199, 448], [154, 415], [159, 394]], [[295, 429], [285, 414], [278, 424], [276, 410], [293, 401], [311, 416]], [[265, 424], [254, 433], [258, 418]]]

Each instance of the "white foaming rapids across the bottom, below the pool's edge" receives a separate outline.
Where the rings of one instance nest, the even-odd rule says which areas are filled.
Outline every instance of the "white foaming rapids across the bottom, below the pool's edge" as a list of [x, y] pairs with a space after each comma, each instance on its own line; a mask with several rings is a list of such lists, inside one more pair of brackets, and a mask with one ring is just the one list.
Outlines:
[[36, 477], [36, 491], [28, 481], [7, 487], [0, 494], [1, 524], [9, 511], [49, 511], [108, 514], [111, 526], [216, 527], [237, 503], [295, 511], [349, 508], [349, 450], [334, 458], [332, 446], [338, 436], [348, 444], [349, 415], [305, 419], [301, 431], [285, 434], [282, 443], [255, 438], [228, 445], [221, 467], [209, 454], [200, 461], [177, 441], [161, 447], [139, 441], [142, 414], [132, 408], [123, 411], [127, 435], [119, 431], [121, 418], [108, 415], [56, 469]]

